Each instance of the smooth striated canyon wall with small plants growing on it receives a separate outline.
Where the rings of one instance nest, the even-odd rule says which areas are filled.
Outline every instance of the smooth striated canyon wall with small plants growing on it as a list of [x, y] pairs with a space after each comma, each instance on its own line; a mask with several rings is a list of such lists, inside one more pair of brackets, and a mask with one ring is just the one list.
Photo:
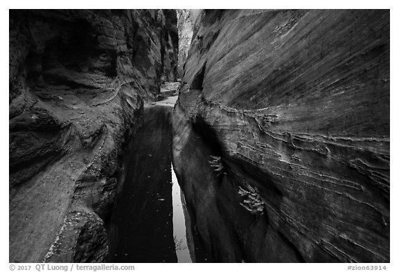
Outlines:
[[173, 164], [201, 246], [215, 262], [389, 262], [389, 10], [198, 21]]

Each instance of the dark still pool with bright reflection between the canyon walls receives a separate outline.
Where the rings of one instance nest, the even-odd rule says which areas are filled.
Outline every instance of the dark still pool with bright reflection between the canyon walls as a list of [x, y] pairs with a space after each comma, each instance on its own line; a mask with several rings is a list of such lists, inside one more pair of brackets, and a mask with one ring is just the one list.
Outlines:
[[184, 197], [172, 167], [171, 111], [146, 108], [127, 150], [107, 222], [109, 262], [192, 262]]

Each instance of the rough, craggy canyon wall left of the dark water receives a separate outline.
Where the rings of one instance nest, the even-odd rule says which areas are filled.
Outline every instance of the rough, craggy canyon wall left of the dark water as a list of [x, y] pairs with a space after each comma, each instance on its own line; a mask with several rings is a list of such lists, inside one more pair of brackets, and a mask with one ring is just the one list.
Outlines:
[[105, 260], [118, 157], [142, 98], [176, 77], [176, 21], [171, 10], [10, 11], [10, 262]]

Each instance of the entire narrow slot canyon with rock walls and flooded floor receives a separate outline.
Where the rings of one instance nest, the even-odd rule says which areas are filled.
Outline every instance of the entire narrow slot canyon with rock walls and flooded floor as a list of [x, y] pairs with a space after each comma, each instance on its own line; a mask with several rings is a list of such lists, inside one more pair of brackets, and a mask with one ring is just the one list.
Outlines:
[[390, 262], [389, 10], [10, 10], [10, 262]]

